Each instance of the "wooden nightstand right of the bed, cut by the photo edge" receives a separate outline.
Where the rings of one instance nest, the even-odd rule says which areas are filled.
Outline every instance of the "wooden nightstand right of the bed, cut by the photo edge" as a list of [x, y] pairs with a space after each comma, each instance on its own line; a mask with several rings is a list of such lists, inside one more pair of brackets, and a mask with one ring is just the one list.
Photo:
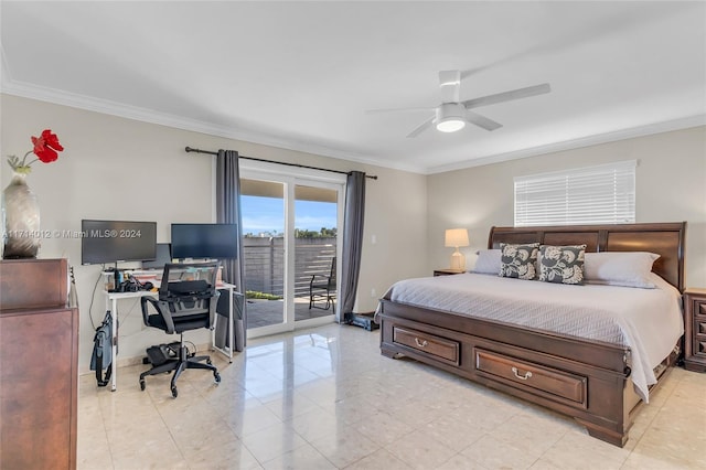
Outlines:
[[684, 291], [684, 368], [706, 372], [706, 289]]

